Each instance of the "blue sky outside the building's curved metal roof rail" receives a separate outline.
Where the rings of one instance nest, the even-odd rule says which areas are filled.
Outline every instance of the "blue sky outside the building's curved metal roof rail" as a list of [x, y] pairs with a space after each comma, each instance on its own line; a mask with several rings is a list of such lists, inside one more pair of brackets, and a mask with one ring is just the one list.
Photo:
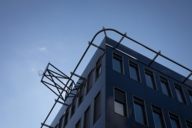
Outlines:
[[0, 127], [40, 127], [56, 97], [38, 72], [69, 74], [103, 26], [192, 68], [191, 12], [189, 0], [0, 0]]

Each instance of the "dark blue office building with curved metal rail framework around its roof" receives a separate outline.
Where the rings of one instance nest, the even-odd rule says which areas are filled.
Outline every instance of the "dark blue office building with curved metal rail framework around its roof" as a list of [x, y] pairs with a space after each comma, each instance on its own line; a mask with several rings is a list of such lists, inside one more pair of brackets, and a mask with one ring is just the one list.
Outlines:
[[[120, 40], [111, 39], [107, 32], [117, 33]], [[96, 45], [94, 39], [100, 33], [104, 33], [104, 38], [100, 45]], [[129, 40], [146, 48], [155, 54], [154, 58], [130, 49], [122, 40]], [[83, 73], [76, 74], [76, 69], [90, 47], [97, 48], [94, 56]], [[157, 63], [158, 57], [185, 69], [189, 75], [180, 75], [166, 65]], [[56, 70], [51, 70], [49, 66]], [[55, 104], [63, 106], [48, 125], [46, 120], [51, 110], [41, 127], [192, 128], [191, 70], [126, 34], [114, 29], [102, 29], [88, 44], [71, 76], [57, 71], [57, 68], [49, 64], [42, 82], [46, 86], [51, 85], [44, 80], [46, 77], [50, 78], [52, 85], [59, 90], [59, 93], [52, 90], [58, 96]], [[60, 86], [54, 81], [54, 77], [63, 77], [66, 82]], [[72, 77], [78, 80], [75, 82]]]

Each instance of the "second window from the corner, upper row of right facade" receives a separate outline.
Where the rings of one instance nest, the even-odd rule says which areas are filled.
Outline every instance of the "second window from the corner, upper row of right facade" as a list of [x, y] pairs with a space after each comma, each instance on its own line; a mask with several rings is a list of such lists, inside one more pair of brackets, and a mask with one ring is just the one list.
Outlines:
[[131, 61], [129, 62], [129, 74], [131, 79], [140, 81], [138, 65]]

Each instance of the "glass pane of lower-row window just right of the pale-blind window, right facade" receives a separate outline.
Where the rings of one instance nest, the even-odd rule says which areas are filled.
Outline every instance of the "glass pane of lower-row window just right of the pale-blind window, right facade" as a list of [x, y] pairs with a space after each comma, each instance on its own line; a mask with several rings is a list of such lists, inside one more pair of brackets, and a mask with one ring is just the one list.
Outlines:
[[138, 123], [145, 124], [144, 107], [140, 104], [134, 104], [135, 120]]

